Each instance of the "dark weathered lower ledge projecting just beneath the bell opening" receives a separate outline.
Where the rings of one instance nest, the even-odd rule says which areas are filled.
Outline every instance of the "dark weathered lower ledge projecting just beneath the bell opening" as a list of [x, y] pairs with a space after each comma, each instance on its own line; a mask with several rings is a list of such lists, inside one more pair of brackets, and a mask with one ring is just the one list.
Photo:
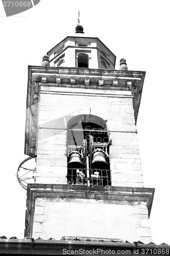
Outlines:
[[98, 200], [103, 200], [106, 204], [128, 205], [135, 205], [136, 202], [147, 202], [150, 215], [153, 196], [154, 188], [144, 187], [28, 184], [25, 237], [32, 236], [36, 198], [86, 199], [94, 200], [94, 203], [98, 203]]

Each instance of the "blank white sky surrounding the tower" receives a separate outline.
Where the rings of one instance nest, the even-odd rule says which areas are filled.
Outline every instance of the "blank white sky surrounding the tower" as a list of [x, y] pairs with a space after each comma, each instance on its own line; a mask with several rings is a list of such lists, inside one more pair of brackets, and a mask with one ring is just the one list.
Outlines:
[[[25, 115], [28, 65], [75, 33], [78, 10], [87, 36], [99, 39], [129, 70], [146, 71], [137, 129], [145, 187], [155, 188], [150, 224], [153, 242], [170, 245], [169, 224], [169, 0], [41, 0], [11, 17], [0, 3], [1, 186], [0, 236], [23, 238], [26, 190], [16, 179], [27, 158]], [[130, 241], [133, 242], [133, 241]]]

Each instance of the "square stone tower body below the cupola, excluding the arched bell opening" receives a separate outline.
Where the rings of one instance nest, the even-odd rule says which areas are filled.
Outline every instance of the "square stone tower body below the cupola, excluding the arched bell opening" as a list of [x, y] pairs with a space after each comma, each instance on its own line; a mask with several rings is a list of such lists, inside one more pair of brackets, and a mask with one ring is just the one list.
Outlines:
[[[29, 70], [27, 107], [34, 105], [36, 111], [27, 115], [25, 152], [30, 155], [35, 150], [37, 173], [36, 183], [28, 185], [25, 236], [149, 243], [154, 189], [143, 187], [135, 125], [144, 72]], [[89, 114], [107, 126], [111, 186], [67, 185], [67, 122]], [[34, 133], [30, 132], [33, 123]]]

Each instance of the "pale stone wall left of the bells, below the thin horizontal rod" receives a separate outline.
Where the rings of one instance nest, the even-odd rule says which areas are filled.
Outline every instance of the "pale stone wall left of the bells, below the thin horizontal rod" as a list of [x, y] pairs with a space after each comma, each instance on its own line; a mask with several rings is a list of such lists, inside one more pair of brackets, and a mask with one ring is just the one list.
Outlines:
[[66, 131], [42, 128], [38, 134], [37, 183], [66, 184]]

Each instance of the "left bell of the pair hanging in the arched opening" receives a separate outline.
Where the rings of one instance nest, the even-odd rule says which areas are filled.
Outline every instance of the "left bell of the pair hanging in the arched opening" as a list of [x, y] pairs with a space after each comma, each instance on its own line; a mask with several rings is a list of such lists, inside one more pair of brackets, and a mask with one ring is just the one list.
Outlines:
[[81, 154], [78, 151], [72, 151], [69, 154], [69, 162], [68, 162], [69, 169], [82, 169], [83, 163], [81, 161]]

